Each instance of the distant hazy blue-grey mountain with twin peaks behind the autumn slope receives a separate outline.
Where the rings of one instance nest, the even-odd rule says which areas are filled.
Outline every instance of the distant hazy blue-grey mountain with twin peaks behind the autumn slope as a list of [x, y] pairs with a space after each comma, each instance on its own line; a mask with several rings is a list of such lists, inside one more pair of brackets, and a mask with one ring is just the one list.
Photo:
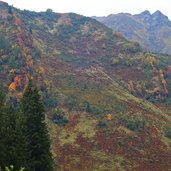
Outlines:
[[151, 14], [111, 14], [93, 17], [115, 31], [122, 32], [129, 40], [137, 41], [150, 52], [171, 54], [171, 21], [160, 11]]

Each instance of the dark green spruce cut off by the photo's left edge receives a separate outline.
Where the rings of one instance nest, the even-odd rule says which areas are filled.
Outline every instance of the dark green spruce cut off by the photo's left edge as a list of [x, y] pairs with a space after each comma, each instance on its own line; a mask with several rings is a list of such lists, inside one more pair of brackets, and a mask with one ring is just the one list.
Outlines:
[[0, 121], [0, 166], [4, 168], [16, 163], [17, 153], [15, 147], [16, 116], [2, 93], [0, 93]]

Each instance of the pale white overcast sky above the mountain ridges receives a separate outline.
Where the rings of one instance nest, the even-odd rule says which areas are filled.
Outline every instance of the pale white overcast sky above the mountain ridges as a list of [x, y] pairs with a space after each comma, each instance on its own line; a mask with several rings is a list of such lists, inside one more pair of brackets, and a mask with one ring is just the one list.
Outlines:
[[10, 5], [32, 11], [74, 12], [85, 16], [106, 16], [120, 12], [137, 14], [160, 10], [171, 20], [171, 0], [4, 0]]

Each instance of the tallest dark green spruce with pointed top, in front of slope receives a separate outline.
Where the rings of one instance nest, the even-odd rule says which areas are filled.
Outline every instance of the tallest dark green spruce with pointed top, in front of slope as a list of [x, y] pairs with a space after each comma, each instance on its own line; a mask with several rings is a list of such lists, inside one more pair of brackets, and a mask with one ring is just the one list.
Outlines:
[[31, 171], [52, 171], [50, 139], [45, 123], [44, 106], [38, 88], [30, 80], [21, 100], [24, 134], [30, 150]]

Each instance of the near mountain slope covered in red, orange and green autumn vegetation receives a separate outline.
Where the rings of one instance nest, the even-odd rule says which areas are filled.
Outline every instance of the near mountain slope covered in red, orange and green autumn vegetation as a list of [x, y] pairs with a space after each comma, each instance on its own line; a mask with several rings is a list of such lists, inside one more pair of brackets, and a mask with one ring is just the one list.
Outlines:
[[73, 13], [0, 14], [0, 82], [14, 106], [28, 78], [40, 87], [55, 170], [170, 169], [170, 56]]

